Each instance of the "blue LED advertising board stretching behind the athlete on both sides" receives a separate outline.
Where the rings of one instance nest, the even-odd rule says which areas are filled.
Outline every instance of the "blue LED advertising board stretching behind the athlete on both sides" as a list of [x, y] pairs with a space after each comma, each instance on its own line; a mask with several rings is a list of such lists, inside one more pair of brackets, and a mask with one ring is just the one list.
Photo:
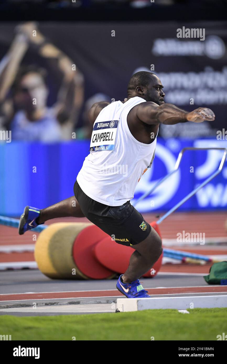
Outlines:
[[[73, 196], [90, 141], [55, 144], [0, 143], [0, 215], [19, 216], [26, 205], [40, 209]], [[158, 138], [155, 158], [137, 185], [132, 204], [173, 170], [184, 147], [227, 147], [216, 139]], [[104, 151], [101, 153], [105, 153]], [[139, 202], [141, 212], [166, 211], [218, 169], [223, 151], [186, 151], [179, 170]], [[227, 162], [222, 172], [179, 210], [227, 210]]]

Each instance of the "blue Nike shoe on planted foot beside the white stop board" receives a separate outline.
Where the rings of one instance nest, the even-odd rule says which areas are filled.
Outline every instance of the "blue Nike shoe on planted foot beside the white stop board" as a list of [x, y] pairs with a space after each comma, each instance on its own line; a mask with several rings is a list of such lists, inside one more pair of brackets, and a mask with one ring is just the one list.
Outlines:
[[140, 284], [140, 281], [137, 279], [131, 283], [123, 283], [121, 281], [121, 276], [118, 278], [116, 287], [118, 291], [123, 293], [127, 298], [138, 298], [138, 297], [150, 297], [147, 292], [145, 291], [144, 287]]

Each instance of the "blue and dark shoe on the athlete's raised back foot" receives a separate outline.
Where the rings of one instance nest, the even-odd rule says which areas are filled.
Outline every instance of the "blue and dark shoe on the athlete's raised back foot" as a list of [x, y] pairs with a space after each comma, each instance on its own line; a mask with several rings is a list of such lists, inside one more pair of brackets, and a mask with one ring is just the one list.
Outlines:
[[26, 206], [24, 213], [20, 217], [18, 232], [23, 235], [26, 231], [34, 229], [34, 227], [42, 224], [36, 222], [36, 218], [39, 217], [40, 210], [36, 207]]

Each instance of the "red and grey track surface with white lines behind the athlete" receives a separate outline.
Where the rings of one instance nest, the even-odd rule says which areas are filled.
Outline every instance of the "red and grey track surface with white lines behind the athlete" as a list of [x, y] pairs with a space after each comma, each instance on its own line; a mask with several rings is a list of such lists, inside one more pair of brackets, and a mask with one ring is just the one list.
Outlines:
[[[147, 221], [154, 221], [154, 214], [144, 214]], [[160, 228], [163, 246], [187, 250], [199, 254], [223, 256], [226, 260], [227, 234], [224, 213], [175, 213]], [[60, 221], [87, 221], [87, 219], [62, 218], [48, 221], [47, 225]], [[57, 314], [81, 314], [115, 312], [116, 299], [122, 297], [116, 289], [116, 278], [111, 280], [51, 280], [38, 269], [4, 270], [4, 264], [20, 264], [34, 261], [32, 232], [19, 236], [17, 229], [1, 226], [0, 237], [0, 314], [18, 316], [43, 316]], [[176, 245], [176, 233], [204, 232], [206, 244]], [[38, 234], [37, 234], [38, 235]], [[207, 240], [208, 239], [208, 240]], [[175, 242], [174, 242], [175, 241]], [[27, 247], [27, 248], [26, 248]], [[7, 248], [9, 251], [7, 252]], [[19, 250], [17, 250], [19, 249]], [[142, 278], [141, 282], [151, 296], [180, 296], [195, 294], [224, 294], [226, 286], [210, 286], [203, 276], [210, 266], [195, 264], [163, 264], [154, 278]]]

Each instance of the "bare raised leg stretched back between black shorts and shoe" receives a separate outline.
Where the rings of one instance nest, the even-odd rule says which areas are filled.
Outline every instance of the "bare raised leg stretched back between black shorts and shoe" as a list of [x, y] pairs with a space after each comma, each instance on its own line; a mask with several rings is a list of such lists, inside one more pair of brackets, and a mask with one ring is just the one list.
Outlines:
[[55, 219], [56, 217], [84, 217], [75, 196], [66, 198], [63, 201], [55, 203], [55, 205], [40, 210], [40, 215], [36, 219], [36, 222], [42, 224], [45, 221]]

